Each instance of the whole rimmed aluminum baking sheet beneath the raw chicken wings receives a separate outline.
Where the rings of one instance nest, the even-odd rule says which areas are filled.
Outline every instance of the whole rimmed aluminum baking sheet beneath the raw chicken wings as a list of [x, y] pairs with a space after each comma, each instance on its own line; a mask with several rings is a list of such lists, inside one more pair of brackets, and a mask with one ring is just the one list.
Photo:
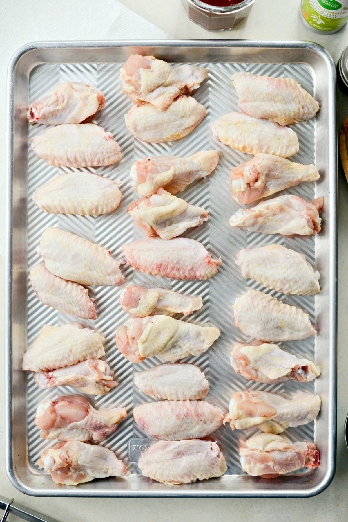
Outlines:
[[[174, 64], [194, 63], [209, 69], [208, 79], [194, 93], [207, 109], [207, 116], [189, 136], [167, 144], [143, 143], [131, 135], [124, 115], [132, 104], [119, 88], [119, 70], [133, 53], [155, 55]], [[218, 143], [212, 136], [211, 123], [223, 114], [237, 109], [237, 95], [231, 75], [246, 70], [259, 75], [292, 77], [313, 94], [321, 104], [312, 120], [294, 125], [300, 149], [293, 160], [315, 163], [321, 174], [316, 183], [305, 183], [285, 192], [306, 200], [325, 196], [322, 231], [311, 239], [285, 239], [231, 229], [229, 218], [238, 205], [231, 197], [229, 171], [248, 157]], [[325, 489], [334, 473], [335, 460], [335, 339], [336, 339], [336, 141], [335, 141], [335, 70], [331, 57], [316, 44], [235, 41], [170, 41], [170, 42], [93, 42], [38, 43], [21, 49], [9, 66], [8, 110], [8, 245], [7, 245], [7, 472], [16, 487], [32, 495], [55, 496], [308, 496]], [[49, 88], [66, 80], [97, 85], [104, 91], [106, 106], [95, 123], [112, 132], [121, 146], [122, 160], [116, 166], [98, 169], [50, 167], [37, 158], [29, 139], [44, 130], [42, 125], [27, 125], [26, 107]], [[261, 389], [289, 396], [306, 389], [322, 398], [318, 418], [305, 426], [287, 430], [290, 438], [307, 439], [317, 444], [321, 464], [313, 471], [293, 473], [275, 480], [252, 478], [241, 472], [238, 437], [257, 432], [232, 432], [221, 428], [213, 436], [220, 444], [228, 469], [223, 477], [194, 484], [168, 487], [141, 476], [137, 468], [139, 448], [146, 446], [145, 432], [133, 421], [131, 409], [149, 399], [133, 384], [136, 371], [163, 362], [151, 358], [135, 365], [127, 361], [115, 347], [115, 330], [125, 314], [118, 304], [122, 287], [94, 287], [98, 318], [80, 321], [97, 328], [106, 337], [106, 361], [113, 368], [118, 386], [109, 394], [88, 396], [93, 406], [124, 406], [127, 419], [102, 444], [124, 460], [131, 476], [125, 479], [97, 480], [78, 487], [58, 486], [35, 465], [42, 450], [53, 444], [39, 437], [33, 424], [40, 401], [75, 393], [73, 388], [42, 390], [32, 375], [21, 372], [21, 359], [27, 347], [39, 335], [44, 324], [62, 325], [75, 321], [51, 307], [43, 305], [31, 289], [29, 270], [41, 262], [35, 248], [42, 232], [50, 226], [61, 227], [94, 241], [116, 258], [122, 256], [122, 245], [138, 239], [141, 233], [126, 212], [137, 199], [130, 185], [129, 168], [145, 156], [168, 155], [188, 157], [203, 149], [218, 149], [217, 169], [206, 180], [187, 187], [180, 194], [188, 203], [209, 210], [209, 220], [185, 234], [201, 242], [209, 252], [222, 258], [219, 272], [208, 281], [173, 281], [148, 276], [124, 267], [126, 284], [162, 286], [183, 293], [200, 295], [204, 305], [186, 320], [210, 323], [221, 330], [214, 345], [200, 357], [189, 358], [205, 372], [209, 380], [207, 400], [228, 411], [229, 398], [236, 390]], [[122, 201], [118, 209], [104, 216], [64, 216], [45, 213], [34, 206], [31, 195], [35, 188], [58, 173], [85, 170], [111, 179], [121, 180]], [[235, 259], [243, 248], [282, 244], [306, 255], [321, 274], [321, 292], [317, 296], [284, 296], [241, 277]], [[250, 288], [270, 292], [279, 299], [299, 306], [309, 313], [318, 334], [302, 341], [284, 343], [286, 350], [306, 355], [320, 365], [320, 378], [309, 384], [285, 382], [267, 385], [247, 382], [230, 366], [230, 351], [235, 341], [244, 339], [234, 326], [232, 304], [237, 296]], [[140, 439], [137, 444], [136, 439]], [[132, 452], [133, 448], [133, 452]]]

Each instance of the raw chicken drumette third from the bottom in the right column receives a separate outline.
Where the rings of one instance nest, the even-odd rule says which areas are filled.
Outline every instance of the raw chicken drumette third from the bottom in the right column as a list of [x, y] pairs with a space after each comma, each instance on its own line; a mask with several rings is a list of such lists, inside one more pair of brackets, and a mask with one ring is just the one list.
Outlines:
[[308, 383], [320, 375], [320, 368], [308, 359], [287, 353], [278, 345], [254, 341], [247, 345], [238, 342], [231, 352], [231, 366], [248, 381]]

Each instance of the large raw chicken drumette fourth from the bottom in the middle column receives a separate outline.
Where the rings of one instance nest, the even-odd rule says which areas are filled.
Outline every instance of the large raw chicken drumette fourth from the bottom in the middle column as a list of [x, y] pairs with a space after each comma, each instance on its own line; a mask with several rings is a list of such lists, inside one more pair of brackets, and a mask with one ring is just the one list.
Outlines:
[[116, 331], [116, 346], [128, 361], [139, 363], [159, 355], [174, 362], [200, 355], [220, 336], [215, 327], [202, 327], [167, 315], [129, 319]]

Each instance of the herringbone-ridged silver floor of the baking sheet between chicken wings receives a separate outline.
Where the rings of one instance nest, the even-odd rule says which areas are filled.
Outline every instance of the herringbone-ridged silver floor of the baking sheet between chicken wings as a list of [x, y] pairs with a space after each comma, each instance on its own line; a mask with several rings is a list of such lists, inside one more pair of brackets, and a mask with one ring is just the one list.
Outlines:
[[[91, 241], [104, 246], [111, 251], [116, 258], [122, 256], [122, 245], [139, 238], [142, 234], [134, 226], [133, 220], [126, 212], [131, 201], [138, 199], [130, 185], [130, 165], [137, 159], [145, 156], [169, 155], [188, 157], [199, 150], [218, 149], [220, 161], [217, 169], [206, 180], [199, 181], [189, 186], [185, 192], [179, 194], [188, 203], [199, 205], [209, 210], [209, 220], [198, 229], [185, 234], [190, 238], [200, 241], [209, 252], [222, 258], [219, 272], [208, 281], [173, 281], [160, 277], [153, 277], [133, 271], [130, 267], [123, 268], [126, 284], [139, 284], [147, 287], [162, 286], [183, 293], [200, 295], [204, 306], [195, 314], [189, 316], [187, 321], [195, 323], [211, 323], [220, 328], [221, 336], [208, 352], [197, 358], [190, 358], [190, 362], [198, 365], [205, 372], [209, 380], [209, 394], [207, 399], [227, 411], [229, 398], [236, 390], [261, 389], [285, 395], [291, 395], [295, 390], [302, 388], [309, 392], [314, 391], [314, 384], [301, 385], [299, 383], [281, 383], [278, 385], [266, 385], [247, 382], [238, 376], [230, 366], [230, 351], [235, 341], [243, 336], [234, 326], [232, 304], [237, 296], [250, 288], [256, 288], [269, 292], [258, 283], [242, 278], [235, 259], [238, 251], [243, 248], [278, 243], [289, 246], [306, 255], [307, 260], [315, 264], [315, 239], [284, 239], [281, 236], [263, 235], [246, 232], [244, 230], [232, 230], [229, 226], [229, 218], [238, 205], [232, 199], [230, 190], [230, 168], [241, 161], [246, 160], [246, 155], [233, 151], [214, 140], [210, 125], [223, 114], [238, 110], [237, 95], [232, 87], [231, 75], [237, 70], [247, 70], [259, 75], [292, 77], [301, 85], [313, 93], [313, 77], [310, 68], [302, 64], [224, 64], [213, 63], [201, 65], [209, 69], [209, 77], [196, 91], [194, 97], [207, 109], [207, 116], [193, 133], [169, 144], [148, 144], [135, 139], [125, 125], [124, 114], [132, 104], [119, 88], [119, 69], [122, 64], [64, 64], [42, 65], [35, 69], [30, 78], [30, 101], [37, 99], [41, 94], [56, 84], [65, 80], [76, 80], [96, 85], [104, 91], [106, 105], [104, 110], [95, 119], [95, 123], [103, 126], [106, 131], [112, 132], [122, 150], [122, 160], [116, 166], [90, 170], [109, 176], [111, 179], [121, 180], [122, 201], [118, 209], [110, 214], [97, 217], [89, 216], [64, 216], [45, 213], [34, 206], [31, 196], [35, 188], [55, 177], [58, 172], [71, 172], [79, 169], [50, 167], [43, 160], [35, 157], [29, 146], [28, 165], [28, 273], [29, 270], [41, 262], [41, 257], [35, 249], [40, 242], [42, 232], [50, 226], [74, 232]], [[44, 126], [34, 125], [29, 128], [29, 138], [43, 132]], [[315, 162], [315, 120], [293, 126], [295, 129], [300, 150], [293, 159], [303, 163]], [[314, 183], [302, 184], [291, 188], [293, 194], [302, 196], [306, 200], [314, 198]], [[126, 320], [125, 314], [118, 304], [119, 293], [122, 287], [94, 287], [90, 295], [95, 298], [98, 318], [95, 321], [79, 321], [84, 326], [96, 328], [106, 337], [105, 360], [114, 370], [114, 378], [118, 381], [109, 394], [101, 397], [88, 396], [92, 404], [97, 407], [124, 406], [128, 410], [128, 416], [119, 426], [116, 432], [107, 437], [102, 444], [113, 449], [117, 456], [126, 462], [129, 469], [137, 473], [139, 470], [128, 459], [128, 441], [131, 438], [145, 437], [133, 421], [131, 410], [134, 406], [150, 400], [147, 396], [138, 392], [133, 385], [133, 374], [136, 371], [145, 370], [155, 364], [163, 362], [159, 358], [145, 360], [142, 364], [135, 365], [127, 361], [115, 347], [115, 330], [119, 324]], [[302, 307], [309, 313], [309, 317], [315, 323], [315, 298], [287, 296], [271, 291], [272, 295], [284, 299], [285, 302]], [[75, 317], [68, 317], [57, 312], [51, 307], [43, 305], [31, 289], [28, 279], [28, 347], [39, 335], [44, 324], [62, 325], [70, 321], [76, 321]], [[245, 338], [244, 338], [245, 339]], [[283, 343], [286, 350], [299, 355], [307, 355], [315, 358], [315, 340], [309, 338], [303, 341], [291, 341]], [[48, 398], [56, 398], [60, 395], [74, 394], [73, 388], [52, 388], [42, 390], [38, 388], [31, 376], [28, 375], [28, 455], [32, 466], [39, 458], [42, 450], [52, 445], [53, 441], [45, 441], [39, 437], [39, 431], [33, 424], [35, 410], [38, 404]], [[226, 457], [227, 473], [239, 474], [238, 437], [249, 437], [257, 430], [249, 432], [232, 432], [229, 427], [221, 428], [214, 436], [217, 438]], [[314, 423], [289, 430], [292, 438], [313, 440]], [[35, 466], [38, 470], [38, 468]]]

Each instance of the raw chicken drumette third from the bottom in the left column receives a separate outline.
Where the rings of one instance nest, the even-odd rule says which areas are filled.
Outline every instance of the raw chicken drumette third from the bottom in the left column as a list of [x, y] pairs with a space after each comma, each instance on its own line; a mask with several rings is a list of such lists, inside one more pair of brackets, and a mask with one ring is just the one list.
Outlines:
[[113, 375], [105, 361], [89, 359], [53, 372], [34, 373], [33, 377], [39, 388], [73, 386], [82, 393], [104, 395], [118, 384], [113, 381]]

